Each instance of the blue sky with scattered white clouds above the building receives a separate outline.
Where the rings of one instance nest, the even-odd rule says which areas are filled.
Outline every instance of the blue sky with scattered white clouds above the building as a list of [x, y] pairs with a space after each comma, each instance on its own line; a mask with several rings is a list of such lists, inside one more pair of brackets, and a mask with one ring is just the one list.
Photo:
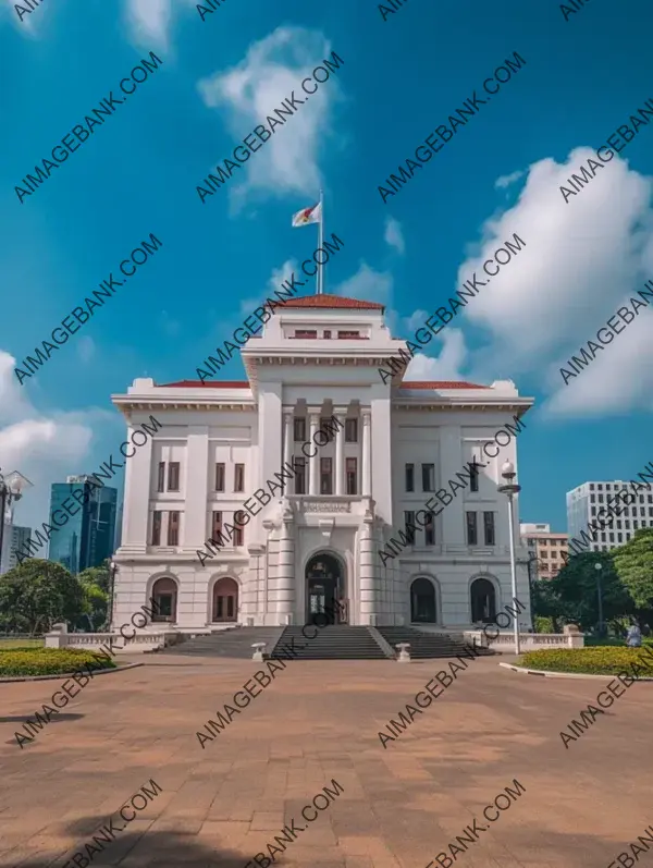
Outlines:
[[[571, 383], [560, 364], [653, 278], [653, 124], [565, 204], [559, 185], [653, 98], [653, 10], [593, 0], [46, 0], [0, 5], [0, 466], [35, 484], [93, 473], [123, 440], [110, 395], [196, 367], [309, 255], [291, 216], [324, 187], [344, 249], [325, 291], [381, 301], [395, 337], [517, 232], [527, 246], [416, 359], [412, 379], [513, 379], [521, 521], [566, 529], [565, 492], [651, 459], [649, 309]], [[24, 204], [14, 186], [141, 58], [163, 64]], [[201, 205], [196, 185], [323, 58], [341, 70]], [[387, 204], [378, 186], [517, 51], [526, 65]], [[288, 87], [288, 84], [291, 85]], [[261, 110], [266, 107], [266, 110]], [[33, 354], [153, 232], [160, 252], [19, 387]], [[482, 257], [483, 259], [485, 256]], [[423, 313], [421, 313], [423, 311]], [[442, 338], [442, 340], [440, 340]], [[239, 359], [222, 379], [241, 379]]]

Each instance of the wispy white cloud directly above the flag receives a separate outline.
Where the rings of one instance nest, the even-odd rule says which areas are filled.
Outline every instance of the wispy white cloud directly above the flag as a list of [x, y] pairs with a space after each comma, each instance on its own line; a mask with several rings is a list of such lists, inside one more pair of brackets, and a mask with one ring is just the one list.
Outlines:
[[[198, 82], [205, 103], [225, 111], [234, 147], [289, 98], [293, 90], [297, 99], [306, 100], [296, 107], [292, 118], [284, 119], [283, 126], [275, 127], [264, 147], [250, 156], [243, 172], [234, 175], [236, 182], [238, 176], [245, 179], [232, 187], [237, 204], [252, 192], [316, 196], [321, 186], [320, 146], [330, 134], [332, 107], [340, 86], [332, 75], [315, 95], [307, 97], [300, 83], [330, 56], [331, 46], [322, 34], [303, 27], [278, 27], [254, 42], [237, 66]], [[231, 150], [224, 154], [225, 158], [232, 156]]]

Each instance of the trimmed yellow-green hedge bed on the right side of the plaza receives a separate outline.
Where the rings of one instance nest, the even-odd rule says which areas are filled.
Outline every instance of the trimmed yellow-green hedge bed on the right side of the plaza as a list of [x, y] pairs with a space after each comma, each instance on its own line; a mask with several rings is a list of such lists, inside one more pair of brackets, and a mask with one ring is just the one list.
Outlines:
[[653, 653], [645, 648], [620, 648], [601, 645], [593, 648], [552, 648], [549, 651], [527, 651], [519, 664], [528, 669], [550, 672], [580, 672], [590, 675], [618, 675], [620, 672], [653, 677]]

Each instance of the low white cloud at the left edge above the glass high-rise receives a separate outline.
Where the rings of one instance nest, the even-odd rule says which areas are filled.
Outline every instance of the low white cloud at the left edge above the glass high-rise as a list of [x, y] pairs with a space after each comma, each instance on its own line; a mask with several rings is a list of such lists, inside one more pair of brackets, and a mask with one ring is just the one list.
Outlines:
[[[0, 466], [2, 473], [20, 470], [30, 488], [16, 506], [16, 524], [32, 527], [47, 521], [51, 482], [66, 474], [87, 470], [93, 441], [91, 424], [113, 425], [114, 413], [90, 409], [81, 413], [39, 413], [27, 387], [14, 375], [16, 360], [0, 350]], [[116, 428], [118, 429], [118, 428]]]

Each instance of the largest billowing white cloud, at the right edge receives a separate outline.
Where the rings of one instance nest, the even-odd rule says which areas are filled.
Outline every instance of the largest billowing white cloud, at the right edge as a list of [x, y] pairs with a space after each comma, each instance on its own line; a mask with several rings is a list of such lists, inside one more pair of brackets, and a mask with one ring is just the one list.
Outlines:
[[[515, 206], [489, 219], [481, 241], [460, 267], [457, 285], [517, 233], [526, 244], [468, 301], [465, 319], [486, 330], [475, 354], [482, 381], [531, 372], [553, 392], [553, 413], [616, 413], [650, 408], [653, 341], [642, 338], [650, 313], [617, 335], [574, 384], [559, 366], [592, 339], [615, 310], [653, 278], [653, 183], [617, 157], [565, 204], [560, 185], [594, 151], [574, 150], [564, 164], [544, 159], [530, 167]], [[643, 379], [643, 383], [642, 383]], [[557, 393], [563, 390], [563, 393]]]

